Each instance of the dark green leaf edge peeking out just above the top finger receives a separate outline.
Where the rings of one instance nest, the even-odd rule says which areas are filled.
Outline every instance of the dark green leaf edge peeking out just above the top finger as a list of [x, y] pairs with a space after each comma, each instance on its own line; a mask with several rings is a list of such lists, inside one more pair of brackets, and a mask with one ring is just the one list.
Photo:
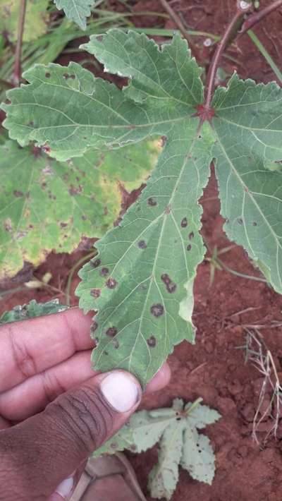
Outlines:
[[68, 307], [60, 304], [58, 299], [47, 301], [47, 303], [37, 303], [35, 299], [32, 299], [28, 304], [14, 306], [12, 310], [5, 311], [0, 317], [0, 325], [27, 320], [28, 318], [43, 317], [67, 309]]

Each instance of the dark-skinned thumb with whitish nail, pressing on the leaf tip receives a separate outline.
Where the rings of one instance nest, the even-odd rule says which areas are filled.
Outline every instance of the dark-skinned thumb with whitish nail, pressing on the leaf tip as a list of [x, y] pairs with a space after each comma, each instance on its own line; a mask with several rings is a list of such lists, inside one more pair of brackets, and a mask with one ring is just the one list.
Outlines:
[[[42, 413], [1, 431], [4, 497], [0, 499], [47, 500], [66, 478], [63, 485], [72, 491], [73, 472], [123, 426], [141, 394], [133, 375], [114, 370], [91, 378], [62, 394]], [[58, 492], [67, 494], [60, 488]], [[61, 499], [56, 494], [52, 498]]]

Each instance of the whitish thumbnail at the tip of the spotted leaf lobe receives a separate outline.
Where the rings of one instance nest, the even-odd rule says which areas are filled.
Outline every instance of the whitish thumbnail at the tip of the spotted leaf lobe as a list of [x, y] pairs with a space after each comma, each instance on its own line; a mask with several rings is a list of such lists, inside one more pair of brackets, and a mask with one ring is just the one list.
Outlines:
[[118, 412], [127, 412], [140, 399], [140, 386], [132, 375], [115, 370], [102, 380], [101, 391], [105, 399]]

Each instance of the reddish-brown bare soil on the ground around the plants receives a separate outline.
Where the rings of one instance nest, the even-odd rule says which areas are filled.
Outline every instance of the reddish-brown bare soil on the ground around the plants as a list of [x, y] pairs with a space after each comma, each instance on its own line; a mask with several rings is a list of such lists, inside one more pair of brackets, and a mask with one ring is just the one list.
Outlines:
[[[121, 2], [109, 1], [111, 8], [121, 9]], [[271, 1], [262, 1], [262, 6]], [[235, 0], [185, 0], [171, 1], [173, 8], [194, 30], [218, 34], [232, 15]], [[139, 1], [135, 11], [162, 11], [159, 1]], [[282, 9], [272, 13], [255, 32], [278, 64], [281, 61]], [[155, 26], [161, 23], [156, 16], [133, 18], [136, 25]], [[163, 23], [164, 25], [164, 23]], [[175, 28], [168, 20], [166, 28]], [[280, 37], [280, 40], [279, 40]], [[195, 41], [202, 51], [202, 64], [209, 61], [212, 48], [204, 47], [203, 37]], [[236, 61], [224, 58], [222, 67], [230, 74], [234, 69], [243, 78], [267, 82], [274, 80], [274, 73], [267, 66], [247, 35], [228, 49], [228, 54]], [[223, 234], [223, 220], [219, 215], [219, 200], [214, 175], [202, 198], [204, 215], [202, 234], [209, 249], [230, 246]], [[88, 243], [85, 243], [87, 246]], [[71, 267], [89, 250], [78, 250], [73, 255], [52, 253], [46, 262], [35, 270], [34, 275], [42, 278], [51, 272], [50, 285], [64, 291]], [[210, 254], [208, 254], [210, 255]], [[233, 270], [260, 277], [259, 272], [238, 246], [221, 255], [222, 260]], [[276, 294], [263, 282], [237, 277], [230, 272], [216, 270], [214, 282], [210, 284], [211, 265], [208, 260], [198, 268], [195, 284], [194, 322], [197, 326], [197, 342], [194, 346], [183, 342], [169, 357], [172, 370], [170, 385], [154, 396], [147, 396], [142, 402], [146, 409], [170, 406], [173, 398], [181, 397], [193, 401], [202, 397], [204, 403], [221, 413], [221, 420], [204, 430], [216, 452], [216, 475], [212, 485], [193, 481], [185, 471], [180, 471], [180, 481], [173, 495], [173, 501], [278, 501], [282, 488], [282, 428], [278, 426], [276, 438], [267, 433], [274, 425], [275, 405], [272, 414], [266, 413], [257, 429], [257, 444], [252, 438], [253, 418], [259, 402], [259, 392], [264, 382], [262, 373], [251, 361], [246, 361], [247, 328], [261, 336], [271, 351], [278, 377], [282, 380], [282, 331], [274, 322], [282, 322], [282, 296]], [[32, 276], [32, 268], [26, 266], [24, 272], [10, 283], [2, 284], [2, 290], [20, 286]], [[77, 303], [73, 295], [78, 277], [74, 277], [71, 291], [72, 304]], [[1, 289], [0, 289], [1, 294]], [[0, 302], [0, 313], [19, 303], [36, 298], [47, 301], [54, 296], [64, 301], [64, 295], [55, 294], [44, 288], [18, 291], [4, 296]], [[246, 327], [246, 326], [249, 327]], [[257, 327], [257, 331], [255, 330]], [[266, 386], [263, 411], [271, 400], [271, 389]], [[266, 440], [265, 440], [266, 439]], [[148, 500], [147, 476], [157, 459], [157, 447], [142, 453], [128, 453], [137, 473], [138, 480]]]

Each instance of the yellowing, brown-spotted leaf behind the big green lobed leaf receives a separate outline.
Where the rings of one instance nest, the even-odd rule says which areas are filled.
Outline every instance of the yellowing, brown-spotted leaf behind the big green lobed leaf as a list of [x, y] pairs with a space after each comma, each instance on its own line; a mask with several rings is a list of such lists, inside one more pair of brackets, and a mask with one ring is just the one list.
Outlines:
[[82, 236], [102, 236], [118, 218], [121, 187], [139, 188], [158, 151], [148, 142], [63, 164], [12, 141], [1, 145], [0, 278], [24, 261], [39, 265], [51, 250], [71, 252]]

